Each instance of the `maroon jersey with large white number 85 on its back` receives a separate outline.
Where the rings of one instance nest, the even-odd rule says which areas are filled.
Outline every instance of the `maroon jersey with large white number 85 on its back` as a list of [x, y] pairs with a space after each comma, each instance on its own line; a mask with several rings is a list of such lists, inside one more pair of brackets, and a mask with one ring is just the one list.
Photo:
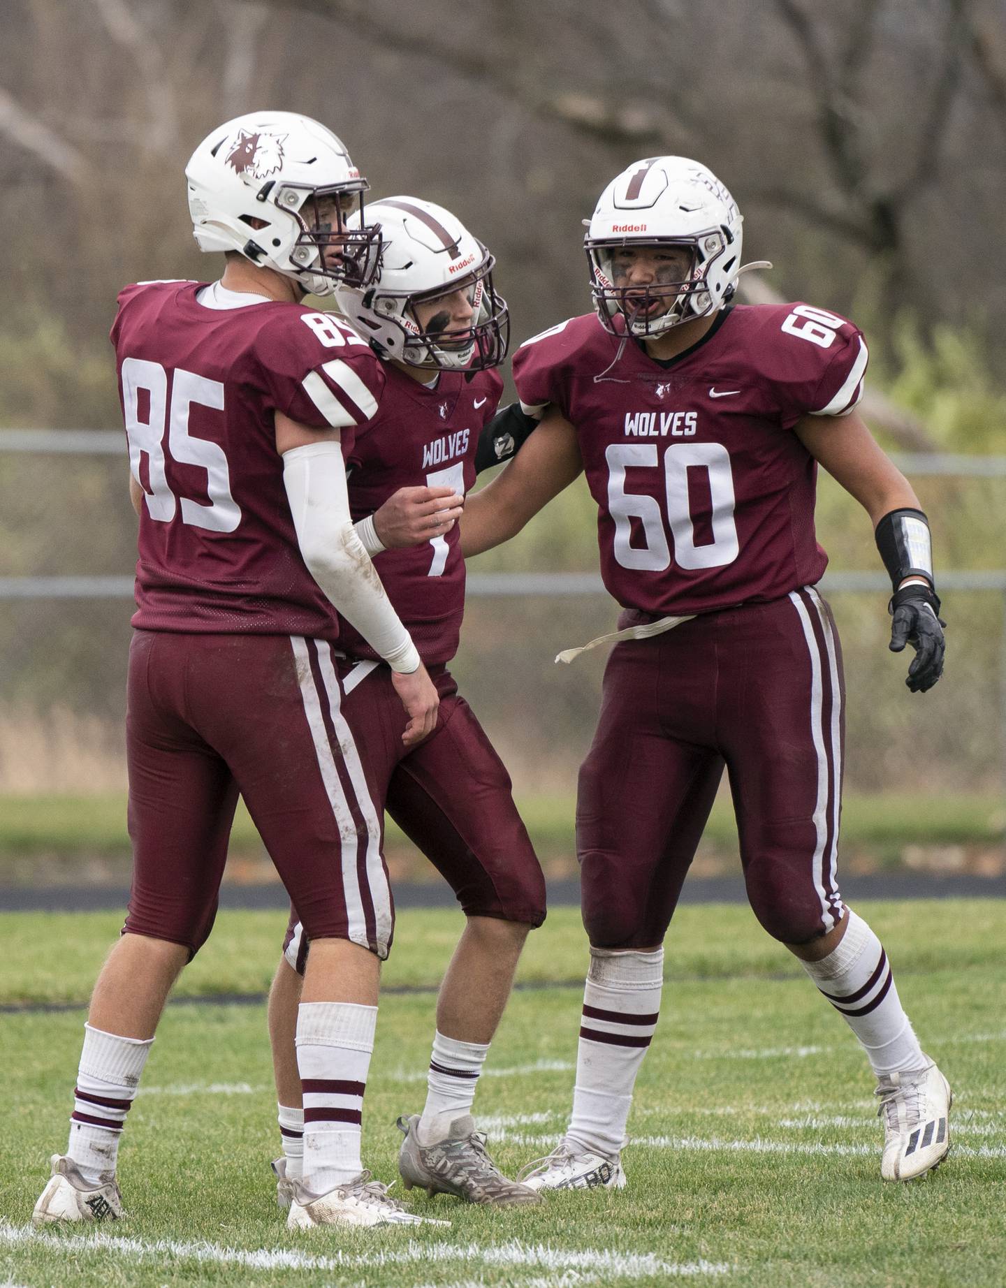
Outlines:
[[383, 367], [328, 314], [277, 301], [211, 309], [196, 299], [202, 285], [128, 286], [112, 326], [146, 493], [133, 625], [336, 639], [298, 547], [274, 412], [340, 429], [348, 453], [377, 410]]

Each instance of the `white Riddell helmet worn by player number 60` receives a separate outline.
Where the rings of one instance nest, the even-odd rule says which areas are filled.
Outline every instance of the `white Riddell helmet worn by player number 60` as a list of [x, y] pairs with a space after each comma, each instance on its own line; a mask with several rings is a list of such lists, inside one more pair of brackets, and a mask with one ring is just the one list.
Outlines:
[[[698, 161], [636, 161], [608, 184], [584, 223], [594, 307], [612, 334], [620, 334], [614, 327], [620, 313], [632, 335], [654, 336], [717, 312], [734, 294], [743, 219], [726, 188]], [[683, 281], [654, 282], [630, 296], [617, 285], [613, 260], [631, 245], [683, 246], [690, 252], [690, 268]], [[657, 301], [665, 305], [661, 312], [654, 309]]]

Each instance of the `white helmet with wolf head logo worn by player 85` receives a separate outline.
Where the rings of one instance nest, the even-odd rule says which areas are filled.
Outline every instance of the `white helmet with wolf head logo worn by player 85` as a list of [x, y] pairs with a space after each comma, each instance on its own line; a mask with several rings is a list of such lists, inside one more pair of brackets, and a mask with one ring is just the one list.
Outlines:
[[[372, 282], [380, 229], [363, 220], [370, 184], [345, 144], [298, 112], [247, 112], [209, 134], [185, 166], [188, 209], [200, 250], [236, 250], [314, 295], [339, 281]], [[332, 225], [319, 202], [334, 197]], [[345, 204], [358, 216], [346, 228]]]

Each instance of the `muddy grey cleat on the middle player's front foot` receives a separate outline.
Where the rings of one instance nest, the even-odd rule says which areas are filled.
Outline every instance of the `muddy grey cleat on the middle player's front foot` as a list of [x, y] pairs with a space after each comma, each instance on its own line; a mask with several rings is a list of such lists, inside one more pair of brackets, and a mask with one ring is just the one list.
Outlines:
[[496, 1207], [541, 1202], [535, 1190], [504, 1176], [486, 1151], [486, 1136], [475, 1131], [470, 1114], [456, 1118], [447, 1136], [432, 1145], [420, 1145], [419, 1121], [419, 1114], [398, 1119], [406, 1137], [398, 1151], [398, 1171], [407, 1190], [416, 1185], [430, 1195], [455, 1194], [466, 1203]]

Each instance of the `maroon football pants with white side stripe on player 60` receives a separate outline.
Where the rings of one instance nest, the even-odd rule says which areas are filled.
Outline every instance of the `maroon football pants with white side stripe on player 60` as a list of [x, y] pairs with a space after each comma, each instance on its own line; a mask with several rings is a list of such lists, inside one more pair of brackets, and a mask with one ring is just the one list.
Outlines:
[[844, 692], [813, 589], [616, 645], [577, 800], [591, 944], [663, 940], [724, 765], [761, 925], [791, 944], [836, 925]]

